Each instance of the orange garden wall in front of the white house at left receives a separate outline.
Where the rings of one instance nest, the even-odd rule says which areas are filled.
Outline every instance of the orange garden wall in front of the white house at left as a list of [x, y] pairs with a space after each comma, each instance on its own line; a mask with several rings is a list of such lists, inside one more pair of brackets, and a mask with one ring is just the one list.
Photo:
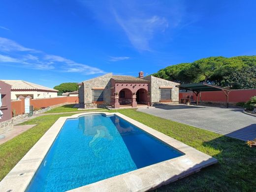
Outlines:
[[[21, 100], [13, 100], [11, 101], [11, 111], [13, 109], [16, 110], [16, 115], [25, 113], [25, 103], [24, 99]], [[42, 108], [49, 107], [58, 104], [68, 104], [68, 103], [79, 103], [78, 96], [64, 96], [64, 97], [56, 97], [56, 98], [38, 98], [31, 99], [30, 105], [33, 108]]]

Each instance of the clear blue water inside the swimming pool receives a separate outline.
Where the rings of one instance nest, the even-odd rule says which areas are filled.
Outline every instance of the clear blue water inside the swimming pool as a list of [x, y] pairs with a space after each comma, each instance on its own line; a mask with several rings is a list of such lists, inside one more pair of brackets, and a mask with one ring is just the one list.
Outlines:
[[85, 115], [66, 120], [27, 191], [64, 192], [182, 155], [115, 115]]

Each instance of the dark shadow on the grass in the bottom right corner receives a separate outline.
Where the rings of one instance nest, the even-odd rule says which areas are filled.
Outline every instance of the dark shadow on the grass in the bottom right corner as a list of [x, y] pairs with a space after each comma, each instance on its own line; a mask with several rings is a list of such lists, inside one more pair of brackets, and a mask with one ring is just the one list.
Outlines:
[[[204, 153], [218, 163], [176, 182], [161, 186], [154, 192], [169, 191], [256, 191], [256, 148], [244, 141], [220, 136], [204, 141]], [[210, 149], [220, 153], [211, 154]]]

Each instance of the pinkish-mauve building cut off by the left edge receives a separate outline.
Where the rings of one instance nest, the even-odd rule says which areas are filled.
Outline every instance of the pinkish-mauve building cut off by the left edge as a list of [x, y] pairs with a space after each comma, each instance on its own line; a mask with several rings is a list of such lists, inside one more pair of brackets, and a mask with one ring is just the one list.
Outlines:
[[0, 122], [11, 118], [11, 86], [0, 81]]

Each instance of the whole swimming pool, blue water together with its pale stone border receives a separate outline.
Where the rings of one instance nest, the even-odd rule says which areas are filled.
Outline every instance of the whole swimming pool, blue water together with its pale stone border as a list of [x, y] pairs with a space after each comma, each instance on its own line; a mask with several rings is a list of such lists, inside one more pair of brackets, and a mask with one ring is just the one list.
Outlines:
[[[84, 119], [79, 118], [88, 114], [90, 116], [85, 116]], [[97, 115], [91, 116], [93, 114]], [[102, 115], [108, 118], [102, 118]], [[93, 125], [95, 128], [92, 128]], [[166, 127], [166, 130], [171, 131], [171, 127]], [[144, 133], [147, 133], [146, 136]], [[84, 140], [79, 142], [80, 138]], [[160, 146], [157, 150], [144, 143], [150, 138], [154, 140], [152, 143]], [[133, 146], [132, 148], [127, 147], [129, 142], [131, 145], [128, 146]], [[105, 143], [105, 147], [102, 148], [100, 143]], [[166, 147], [174, 150], [175, 155], [166, 157], [166, 153], [163, 153]], [[130, 152], [130, 149], [134, 151]], [[143, 151], [142, 161], [134, 158], [140, 155], [138, 149]], [[157, 156], [154, 156], [154, 151], [157, 151]], [[108, 158], [104, 158], [104, 154]], [[90, 165], [89, 162], [94, 164]], [[0, 181], [0, 189], [3, 192], [40, 192], [46, 189], [62, 191], [74, 187], [70, 192], [145, 192], [217, 162], [215, 158], [121, 113], [84, 112], [60, 117]], [[85, 168], [87, 171], [84, 171]], [[97, 177], [101, 169], [101, 173], [104, 173]], [[83, 182], [82, 177], [87, 174], [91, 174], [91, 178]], [[109, 177], [111, 174], [113, 176]], [[76, 188], [81, 185], [83, 186]]]

